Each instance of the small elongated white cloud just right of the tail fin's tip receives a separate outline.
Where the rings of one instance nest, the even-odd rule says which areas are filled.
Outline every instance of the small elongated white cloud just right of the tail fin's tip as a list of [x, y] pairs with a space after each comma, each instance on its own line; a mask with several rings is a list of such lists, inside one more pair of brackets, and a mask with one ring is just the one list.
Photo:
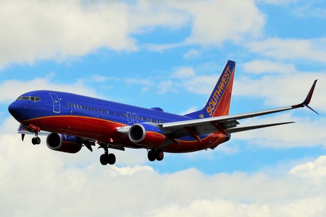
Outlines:
[[262, 73], [293, 73], [296, 72], [293, 64], [284, 64], [268, 60], [253, 60], [242, 65], [244, 71], [254, 74]]

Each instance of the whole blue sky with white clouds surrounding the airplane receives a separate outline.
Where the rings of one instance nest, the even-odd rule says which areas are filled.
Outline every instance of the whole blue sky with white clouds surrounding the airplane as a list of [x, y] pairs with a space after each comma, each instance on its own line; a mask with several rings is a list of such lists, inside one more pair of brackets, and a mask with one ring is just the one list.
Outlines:
[[[323, 216], [326, 212], [326, 2], [1, 1], [2, 216]], [[230, 114], [293, 124], [233, 133], [214, 150], [61, 153], [22, 142], [8, 105], [66, 91], [174, 114], [200, 110], [227, 60]]]

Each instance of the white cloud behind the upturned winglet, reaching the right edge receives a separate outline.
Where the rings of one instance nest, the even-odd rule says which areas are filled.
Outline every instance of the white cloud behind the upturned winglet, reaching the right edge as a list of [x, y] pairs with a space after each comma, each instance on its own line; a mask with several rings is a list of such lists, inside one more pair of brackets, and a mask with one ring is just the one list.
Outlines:
[[257, 79], [241, 76], [234, 79], [232, 94], [260, 97], [264, 99], [266, 105], [298, 104], [304, 101], [315, 79], [318, 81], [309, 105], [318, 111], [325, 112], [326, 73], [324, 72], [265, 75]]

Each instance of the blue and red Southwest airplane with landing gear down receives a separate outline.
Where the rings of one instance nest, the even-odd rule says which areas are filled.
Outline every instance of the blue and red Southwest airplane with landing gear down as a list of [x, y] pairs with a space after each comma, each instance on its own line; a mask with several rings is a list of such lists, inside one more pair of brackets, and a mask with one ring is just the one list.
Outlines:
[[[159, 107], [143, 108], [72, 93], [38, 90], [24, 93], [8, 110], [20, 123], [18, 133], [33, 134], [40, 144], [46, 135], [48, 148], [77, 153], [83, 146], [104, 149], [102, 165], [113, 165], [109, 149], [147, 149], [150, 161], [160, 161], [164, 152], [186, 153], [215, 149], [240, 131], [294, 122], [238, 127], [239, 120], [308, 107], [317, 80], [302, 103], [269, 110], [229, 115], [235, 62], [227, 61], [204, 107], [186, 115], [164, 112]], [[317, 112], [315, 112], [317, 113]], [[318, 114], [318, 113], [317, 113]]]

